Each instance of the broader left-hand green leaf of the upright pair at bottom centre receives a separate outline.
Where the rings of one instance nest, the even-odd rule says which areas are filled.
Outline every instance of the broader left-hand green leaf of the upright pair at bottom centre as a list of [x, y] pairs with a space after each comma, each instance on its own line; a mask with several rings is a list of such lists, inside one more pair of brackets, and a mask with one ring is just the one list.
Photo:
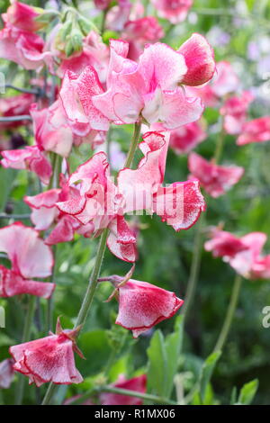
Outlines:
[[157, 330], [151, 339], [148, 353], [148, 392], [163, 397], [166, 392], [167, 360], [164, 337]]

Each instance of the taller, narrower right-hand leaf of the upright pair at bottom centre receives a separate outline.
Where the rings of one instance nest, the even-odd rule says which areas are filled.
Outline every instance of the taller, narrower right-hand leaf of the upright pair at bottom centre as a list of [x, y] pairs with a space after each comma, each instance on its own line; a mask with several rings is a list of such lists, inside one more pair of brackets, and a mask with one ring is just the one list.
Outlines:
[[170, 398], [173, 387], [174, 378], [178, 369], [179, 356], [181, 354], [181, 347], [183, 342], [183, 316], [178, 316], [175, 320], [175, 331], [166, 337], [166, 361], [167, 361], [167, 376], [166, 376], [166, 398]]

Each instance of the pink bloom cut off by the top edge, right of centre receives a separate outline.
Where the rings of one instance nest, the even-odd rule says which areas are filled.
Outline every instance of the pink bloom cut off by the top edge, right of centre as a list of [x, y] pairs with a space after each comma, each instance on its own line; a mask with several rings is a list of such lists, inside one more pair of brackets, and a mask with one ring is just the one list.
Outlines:
[[161, 18], [170, 23], [181, 23], [186, 18], [193, 0], [151, 0]]

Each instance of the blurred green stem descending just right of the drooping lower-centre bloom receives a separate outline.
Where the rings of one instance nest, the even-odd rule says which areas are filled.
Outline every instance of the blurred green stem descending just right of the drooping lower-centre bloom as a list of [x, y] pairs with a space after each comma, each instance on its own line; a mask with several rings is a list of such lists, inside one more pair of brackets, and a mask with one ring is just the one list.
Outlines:
[[184, 320], [188, 315], [191, 304], [193, 302], [194, 294], [196, 291], [196, 286], [198, 282], [198, 275], [201, 267], [202, 260], [202, 227], [205, 217], [202, 214], [201, 218], [198, 221], [195, 238], [194, 238], [194, 247], [193, 247], [193, 257], [190, 276], [187, 284], [187, 290], [184, 298], [184, 305], [182, 307], [182, 313], [184, 314]]

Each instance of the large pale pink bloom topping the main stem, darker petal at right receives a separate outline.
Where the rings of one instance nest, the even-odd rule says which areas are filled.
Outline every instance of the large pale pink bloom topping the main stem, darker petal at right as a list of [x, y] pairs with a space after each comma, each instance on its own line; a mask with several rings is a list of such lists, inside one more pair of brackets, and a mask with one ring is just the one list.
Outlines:
[[141, 115], [150, 124], [161, 121], [173, 130], [197, 121], [202, 103], [186, 97], [179, 85], [211, 79], [215, 62], [207, 41], [193, 34], [177, 51], [162, 43], [147, 45], [139, 63], [127, 58], [128, 48], [124, 41], [111, 40], [107, 91], [92, 97], [94, 106], [115, 123], [135, 123]]

